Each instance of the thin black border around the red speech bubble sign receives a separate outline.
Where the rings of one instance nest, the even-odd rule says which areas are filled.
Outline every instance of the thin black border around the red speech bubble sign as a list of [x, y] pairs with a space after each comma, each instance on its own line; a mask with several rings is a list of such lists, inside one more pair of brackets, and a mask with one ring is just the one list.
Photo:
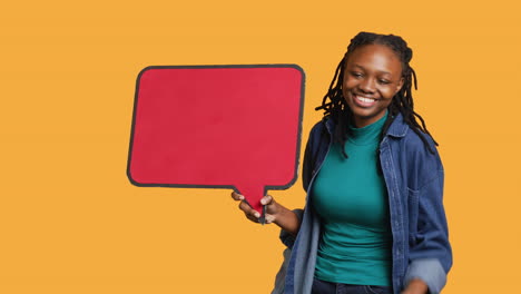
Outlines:
[[296, 146], [296, 160], [295, 160], [295, 174], [293, 179], [289, 180], [286, 185], [283, 186], [265, 186], [264, 187], [264, 195], [268, 189], [287, 189], [292, 187], [298, 177], [298, 167], [299, 167], [299, 155], [301, 155], [301, 141], [302, 141], [302, 121], [303, 121], [303, 112], [304, 112], [304, 90], [306, 84], [306, 75], [304, 70], [294, 63], [266, 63], [266, 65], [214, 65], [214, 66], [149, 66], [139, 72], [136, 79], [136, 92], [134, 96], [134, 110], [132, 110], [132, 125], [130, 130], [130, 141], [129, 141], [129, 150], [128, 150], [128, 159], [127, 159], [127, 177], [130, 183], [138, 187], [176, 187], [176, 188], [210, 188], [210, 189], [225, 189], [230, 188], [237, 193], [240, 193], [237, 187], [234, 185], [180, 185], [180, 184], [142, 184], [136, 182], [131, 174], [130, 174], [130, 159], [132, 155], [132, 146], [134, 146], [134, 131], [136, 126], [136, 112], [137, 112], [137, 101], [138, 101], [138, 94], [139, 94], [139, 81], [141, 79], [142, 74], [150, 69], [190, 69], [190, 68], [293, 68], [301, 71], [302, 81], [301, 81], [301, 109], [298, 111], [298, 130], [297, 130], [297, 146]]

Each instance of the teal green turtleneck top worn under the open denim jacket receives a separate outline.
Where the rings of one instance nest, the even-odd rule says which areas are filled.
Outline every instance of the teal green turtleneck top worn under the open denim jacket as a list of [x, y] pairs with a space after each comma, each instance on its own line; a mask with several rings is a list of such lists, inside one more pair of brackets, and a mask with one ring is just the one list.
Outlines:
[[377, 158], [386, 117], [351, 128], [345, 143], [348, 158], [333, 144], [315, 178], [312, 206], [323, 224], [315, 266], [320, 280], [392, 285], [387, 192]]

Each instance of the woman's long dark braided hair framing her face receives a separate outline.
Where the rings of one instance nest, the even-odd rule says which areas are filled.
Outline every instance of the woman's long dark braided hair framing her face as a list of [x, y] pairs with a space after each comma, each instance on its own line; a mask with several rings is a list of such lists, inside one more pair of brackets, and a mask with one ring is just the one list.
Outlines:
[[[387, 110], [389, 116], [383, 126], [382, 136], [384, 136], [393, 122], [396, 115], [402, 114], [403, 120], [407, 124], [412, 130], [419, 135], [422, 141], [427, 147], [429, 151], [434, 154], [433, 148], [429, 145], [424, 134], [431, 136], [426, 129], [425, 121], [423, 118], [414, 111], [414, 102], [412, 97], [412, 85], [414, 82], [414, 89], [417, 89], [416, 74], [409, 65], [412, 59], [412, 50], [407, 47], [405, 40], [399, 36], [394, 35], [379, 35], [371, 32], [360, 32], [353, 39], [347, 47], [347, 51], [336, 67], [335, 75], [331, 81], [330, 89], [322, 100], [322, 105], [316, 107], [315, 110], [324, 109], [324, 116], [331, 116], [333, 121], [336, 124], [335, 134], [333, 135], [333, 140], [340, 143], [342, 146], [342, 153], [345, 157], [345, 141], [350, 136], [351, 131], [348, 128], [350, 122], [353, 119], [353, 112], [347, 106], [344, 96], [342, 94], [342, 85], [344, 81], [344, 69], [345, 61], [351, 52], [356, 48], [366, 46], [366, 45], [383, 45], [392, 49], [402, 62], [402, 78], [403, 86], [396, 95], [394, 95]], [[416, 118], [421, 121], [421, 125], [417, 122]], [[432, 138], [432, 136], [431, 136]], [[438, 146], [438, 143], [433, 139], [434, 144]]]

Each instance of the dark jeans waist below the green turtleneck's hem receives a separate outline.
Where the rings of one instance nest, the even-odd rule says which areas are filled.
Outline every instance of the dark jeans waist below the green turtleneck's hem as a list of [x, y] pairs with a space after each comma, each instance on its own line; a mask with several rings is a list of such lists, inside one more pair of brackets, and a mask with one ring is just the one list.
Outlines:
[[313, 280], [312, 294], [392, 294], [392, 287], [350, 285], [325, 282], [318, 278]]

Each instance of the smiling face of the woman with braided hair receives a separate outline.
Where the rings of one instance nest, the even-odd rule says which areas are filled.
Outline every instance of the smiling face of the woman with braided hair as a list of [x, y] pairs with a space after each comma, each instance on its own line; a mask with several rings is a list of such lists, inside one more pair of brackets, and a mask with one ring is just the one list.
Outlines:
[[345, 62], [343, 95], [357, 128], [385, 115], [403, 86], [402, 62], [383, 45], [366, 45], [352, 51]]

